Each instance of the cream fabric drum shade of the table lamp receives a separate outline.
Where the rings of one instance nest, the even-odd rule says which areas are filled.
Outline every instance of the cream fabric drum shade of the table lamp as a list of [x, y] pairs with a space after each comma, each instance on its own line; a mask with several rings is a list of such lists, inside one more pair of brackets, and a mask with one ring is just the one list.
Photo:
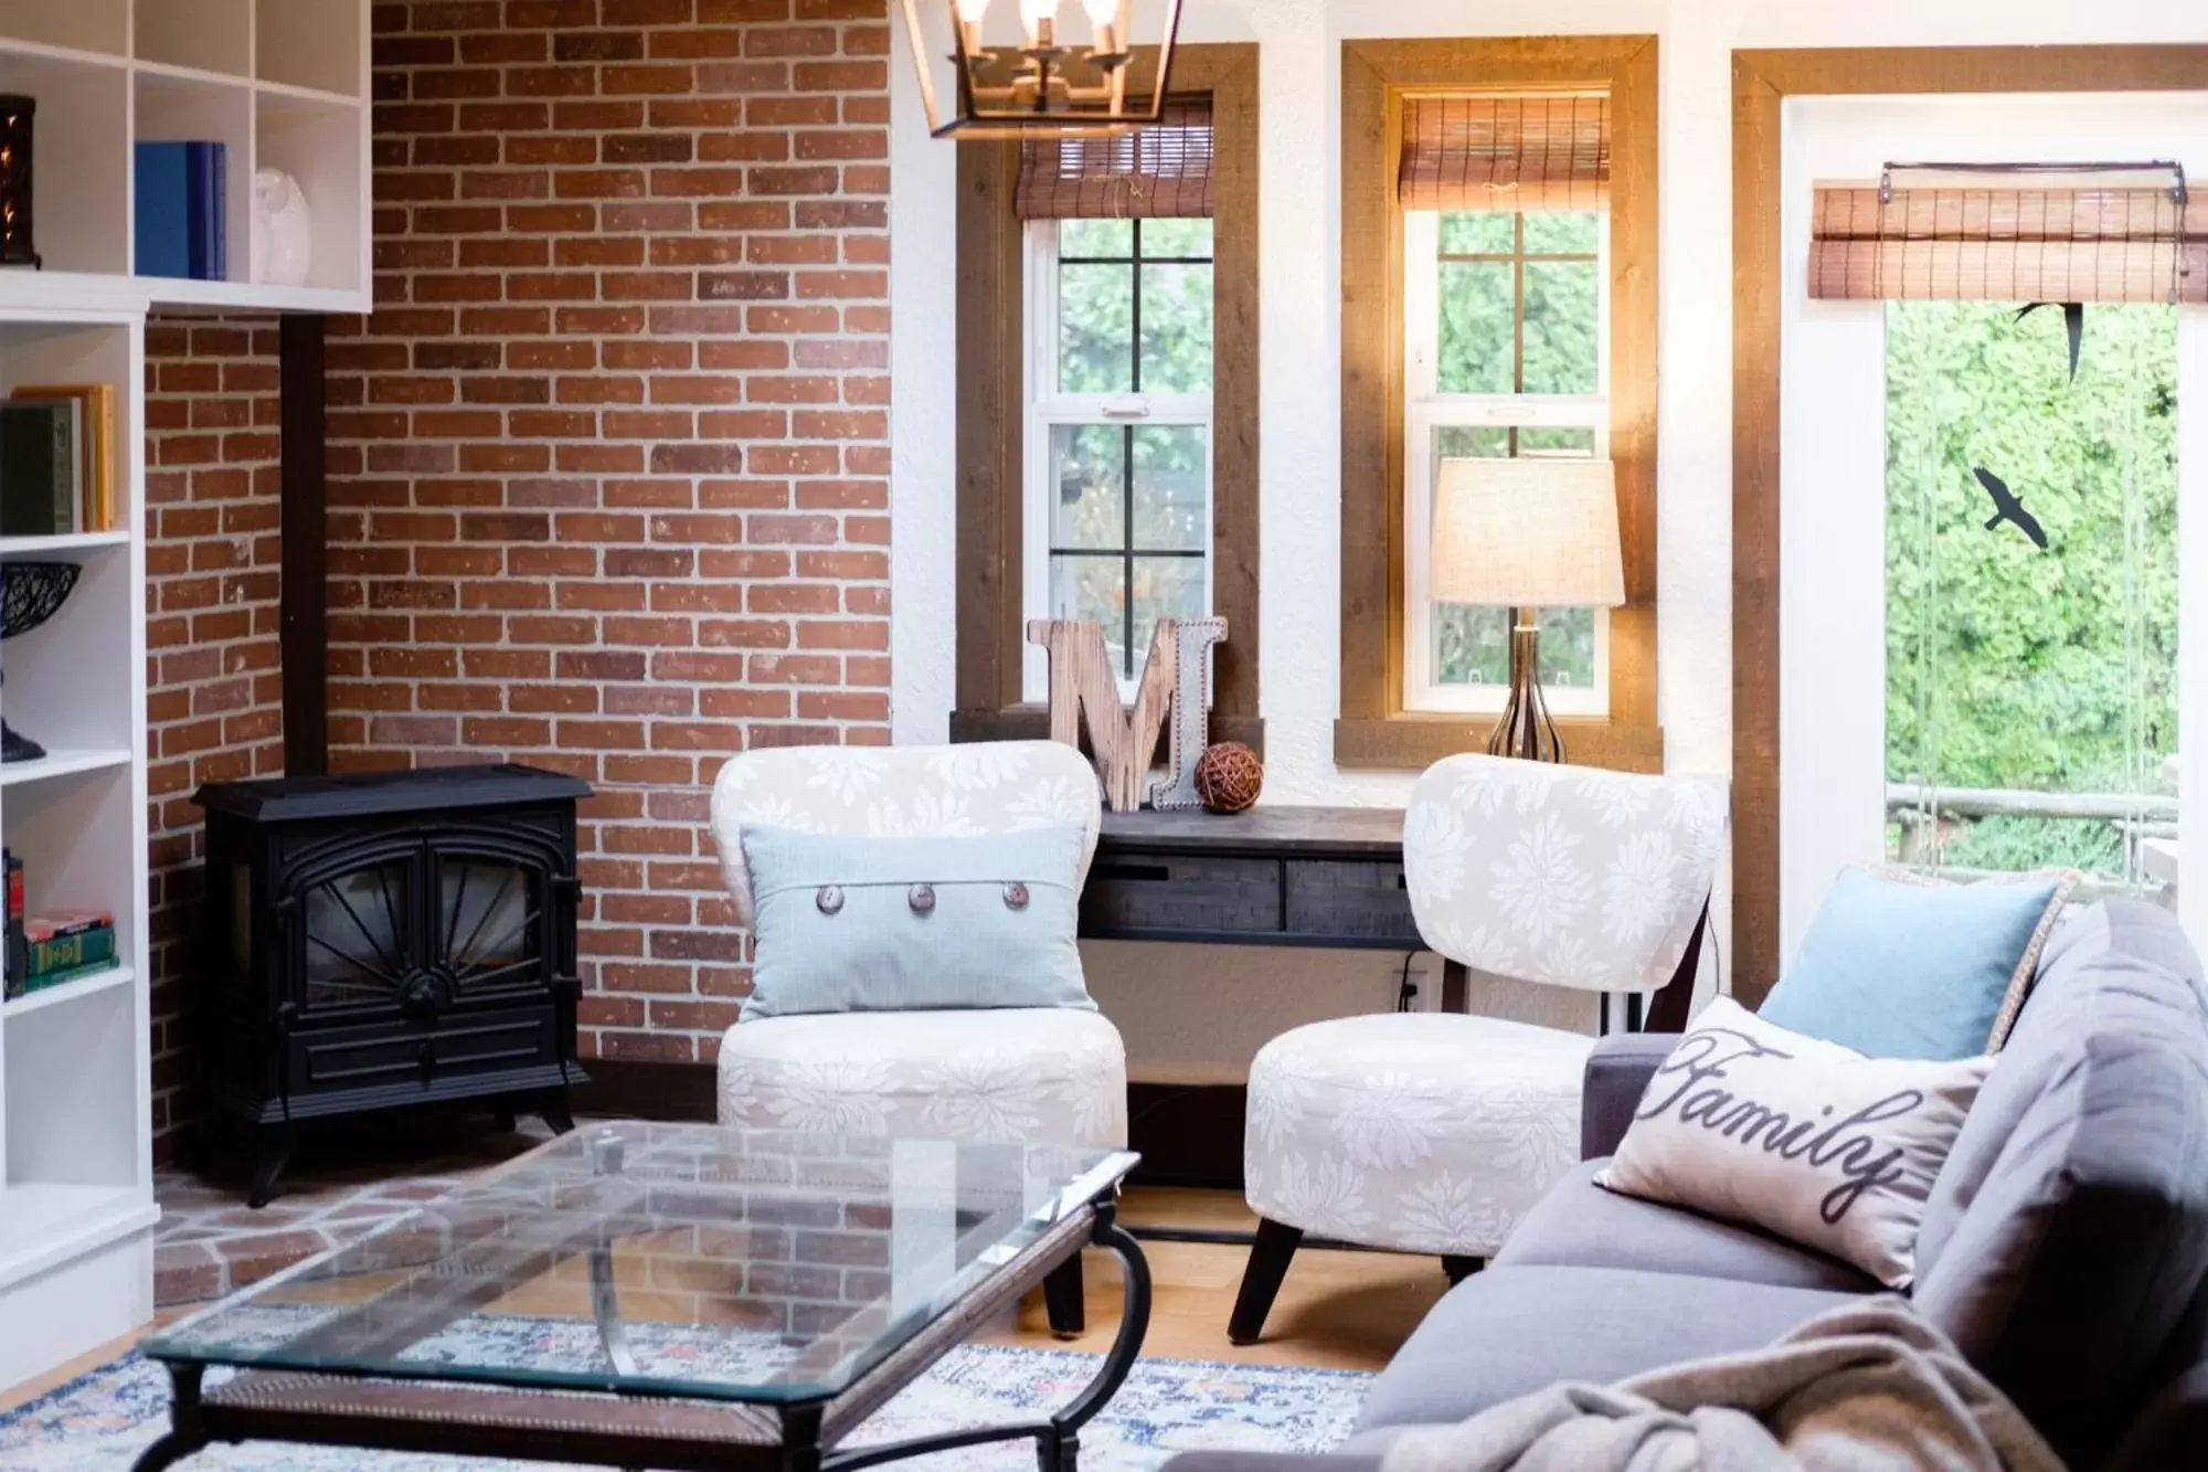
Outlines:
[[1504, 608], [1618, 608], [1618, 486], [1607, 460], [1444, 460], [1433, 597]]

